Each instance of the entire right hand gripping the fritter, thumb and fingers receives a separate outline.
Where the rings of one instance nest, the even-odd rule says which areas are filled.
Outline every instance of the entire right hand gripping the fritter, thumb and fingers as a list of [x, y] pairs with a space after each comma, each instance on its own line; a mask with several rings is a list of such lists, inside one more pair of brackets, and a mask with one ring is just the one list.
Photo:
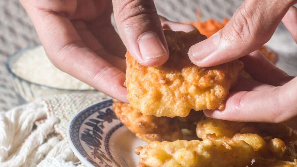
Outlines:
[[[240, 58], [266, 43], [281, 20], [297, 42], [294, 3], [296, 1], [245, 1], [222, 30], [190, 48], [189, 58], [202, 67]], [[288, 76], [258, 51], [241, 60], [256, 81], [240, 78], [233, 89], [237, 92], [231, 92], [226, 100], [225, 110], [204, 111], [206, 116], [248, 122], [296, 120], [297, 78]]]

